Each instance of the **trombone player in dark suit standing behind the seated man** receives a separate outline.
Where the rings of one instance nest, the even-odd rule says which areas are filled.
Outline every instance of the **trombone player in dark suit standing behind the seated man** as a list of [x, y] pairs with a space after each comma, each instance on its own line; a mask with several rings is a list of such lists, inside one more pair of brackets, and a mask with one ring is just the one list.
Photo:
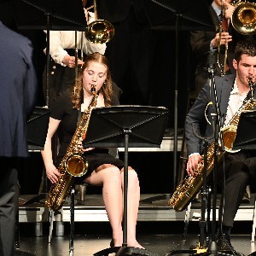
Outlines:
[[[219, 42], [219, 25], [221, 20], [226, 20], [228, 28], [226, 31], [221, 33], [221, 49], [219, 52], [219, 63], [224, 66], [224, 54], [225, 46], [224, 44], [228, 41], [228, 52], [227, 52], [227, 62], [225, 63], [226, 70], [225, 73], [236, 73], [234, 67], [232, 66], [232, 61], [234, 58], [234, 51], [236, 43], [241, 40], [241, 35], [239, 35], [230, 23], [230, 17], [234, 11], [234, 7], [230, 5], [230, 0], [213, 0], [212, 4], [209, 6], [210, 14], [212, 15], [212, 21], [215, 26], [215, 31], [192, 31], [190, 32], [190, 44], [195, 54], [196, 59], [196, 69], [195, 69], [195, 88], [190, 91], [190, 98], [195, 99], [195, 97], [200, 92], [201, 88], [207, 83], [209, 77], [207, 73], [207, 52], [210, 49], [218, 50]], [[223, 8], [226, 9], [225, 12]], [[216, 55], [217, 56], [217, 55]], [[216, 58], [217, 59], [217, 58]], [[216, 60], [217, 61], [217, 60]], [[217, 69], [217, 75], [220, 75], [220, 69]]]

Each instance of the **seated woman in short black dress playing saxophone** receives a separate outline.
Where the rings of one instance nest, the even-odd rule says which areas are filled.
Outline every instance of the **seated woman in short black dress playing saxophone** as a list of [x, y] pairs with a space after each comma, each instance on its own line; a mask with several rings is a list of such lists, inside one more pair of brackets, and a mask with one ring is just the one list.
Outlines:
[[[113, 92], [108, 60], [100, 53], [87, 56], [79, 74], [77, 85], [57, 97], [51, 108], [48, 135], [44, 151], [42, 151], [46, 174], [51, 183], [56, 183], [60, 177], [57, 167], [66, 154], [67, 147], [77, 129], [79, 112], [84, 112], [90, 107], [93, 98], [91, 89], [94, 87], [98, 95], [96, 107], [119, 104], [119, 100]], [[54, 163], [51, 138], [57, 130], [61, 147], [57, 162]], [[103, 186], [103, 201], [113, 230], [112, 245], [120, 247], [123, 242], [124, 162], [108, 154], [107, 148], [86, 148], [83, 150], [89, 168], [82, 178], [85, 183]], [[140, 201], [139, 180], [137, 172], [130, 166], [128, 178], [127, 244], [129, 247], [143, 248], [136, 239], [137, 212]]]

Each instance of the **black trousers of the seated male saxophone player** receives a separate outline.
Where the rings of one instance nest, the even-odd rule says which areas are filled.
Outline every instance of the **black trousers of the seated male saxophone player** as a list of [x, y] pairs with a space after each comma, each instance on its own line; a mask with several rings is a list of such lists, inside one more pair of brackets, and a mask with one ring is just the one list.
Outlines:
[[233, 227], [249, 177], [255, 175], [256, 157], [249, 152], [229, 154], [218, 167], [218, 184], [225, 180], [223, 225]]

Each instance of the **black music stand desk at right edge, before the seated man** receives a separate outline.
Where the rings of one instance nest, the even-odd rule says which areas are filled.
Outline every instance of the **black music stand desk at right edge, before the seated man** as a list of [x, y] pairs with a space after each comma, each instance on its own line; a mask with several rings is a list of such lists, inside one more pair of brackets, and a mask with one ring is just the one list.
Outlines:
[[241, 113], [233, 149], [256, 149], [256, 110]]

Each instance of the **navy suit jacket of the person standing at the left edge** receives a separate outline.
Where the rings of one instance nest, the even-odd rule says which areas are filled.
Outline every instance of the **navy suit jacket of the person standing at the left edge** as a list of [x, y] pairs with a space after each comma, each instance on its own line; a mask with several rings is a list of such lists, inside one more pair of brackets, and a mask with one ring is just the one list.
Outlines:
[[26, 119], [37, 101], [32, 44], [0, 21], [0, 156], [27, 156]]

